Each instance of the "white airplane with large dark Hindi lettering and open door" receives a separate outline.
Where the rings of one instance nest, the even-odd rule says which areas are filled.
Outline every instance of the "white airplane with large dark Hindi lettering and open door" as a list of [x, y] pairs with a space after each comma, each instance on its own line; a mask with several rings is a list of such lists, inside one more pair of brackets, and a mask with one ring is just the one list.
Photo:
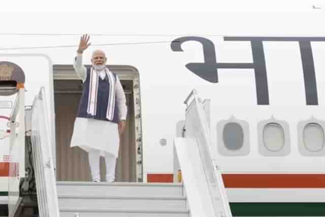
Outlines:
[[[84, 64], [90, 67], [91, 51], [104, 50], [127, 98], [116, 181], [177, 182], [181, 168], [174, 138], [184, 136], [183, 101], [196, 89], [209, 99], [211, 154], [222, 171], [233, 215], [325, 214], [321, 11], [306, 16], [105, 14], [114, 22], [104, 28], [93, 24], [91, 16], [76, 22], [57, 15], [45, 17], [42, 30], [31, 26], [19, 32], [22, 26], [14, 26], [19, 33], [0, 33], [0, 65], [10, 61], [24, 72], [24, 105], [32, 106], [44, 86], [57, 181], [90, 177], [86, 152], [70, 148], [82, 93], [72, 63], [79, 33], [86, 30], [92, 46], [83, 54]], [[25, 22], [35, 20], [30, 16]], [[14, 161], [7, 123], [15, 100], [16, 93], [2, 96], [0, 102], [3, 171]], [[26, 147], [20, 151], [26, 154], [16, 160], [17, 172], [24, 178], [29, 156]], [[4, 199], [7, 176], [0, 180]], [[28, 188], [25, 184], [22, 188]]]

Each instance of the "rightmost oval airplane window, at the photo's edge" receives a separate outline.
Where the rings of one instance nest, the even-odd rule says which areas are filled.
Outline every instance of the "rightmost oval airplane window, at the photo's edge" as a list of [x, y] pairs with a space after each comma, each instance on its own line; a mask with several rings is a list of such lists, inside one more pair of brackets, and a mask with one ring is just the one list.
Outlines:
[[323, 149], [324, 131], [318, 123], [308, 123], [304, 128], [303, 137], [307, 150], [317, 152]]

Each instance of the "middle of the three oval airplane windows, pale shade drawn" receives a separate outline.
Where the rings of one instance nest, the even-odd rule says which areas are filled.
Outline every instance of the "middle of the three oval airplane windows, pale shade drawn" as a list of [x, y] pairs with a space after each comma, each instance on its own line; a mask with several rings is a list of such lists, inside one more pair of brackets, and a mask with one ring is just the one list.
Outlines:
[[278, 123], [268, 123], [264, 127], [263, 143], [269, 151], [280, 151], [284, 147], [284, 131]]

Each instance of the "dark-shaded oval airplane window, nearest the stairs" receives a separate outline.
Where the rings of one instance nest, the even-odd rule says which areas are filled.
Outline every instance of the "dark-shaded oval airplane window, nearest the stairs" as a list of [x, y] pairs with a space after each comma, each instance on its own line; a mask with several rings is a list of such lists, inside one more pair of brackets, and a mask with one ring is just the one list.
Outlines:
[[242, 127], [235, 122], [227, 123], [222, 132], [223, 143], [229, 150], [239, 150], [244, 144]]

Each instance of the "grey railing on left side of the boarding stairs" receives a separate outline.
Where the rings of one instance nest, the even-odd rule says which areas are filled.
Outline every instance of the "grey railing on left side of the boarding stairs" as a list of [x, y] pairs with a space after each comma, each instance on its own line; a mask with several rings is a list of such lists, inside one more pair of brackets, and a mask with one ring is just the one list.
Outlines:
[[51, 128], [47, 114], [45, 89], [42, 87], [31, 108], [31, 141], [37, 186], [37, 198], [42, 217], [59, 217], [56, 178], [53, 164]]

